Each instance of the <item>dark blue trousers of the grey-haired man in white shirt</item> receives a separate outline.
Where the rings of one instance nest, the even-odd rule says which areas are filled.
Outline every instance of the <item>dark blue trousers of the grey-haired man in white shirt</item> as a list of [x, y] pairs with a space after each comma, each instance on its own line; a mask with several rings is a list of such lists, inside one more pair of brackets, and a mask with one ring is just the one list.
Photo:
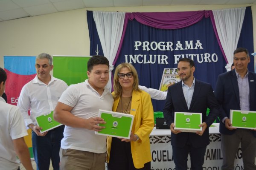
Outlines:
[[49, 170], [50, 160], [52, 167], [59, 170], [61, 139], [63, 138], [64, 125], [49, 130], [46, 136], [37, 136], [32, 131], [32, 147], [37, 170]]

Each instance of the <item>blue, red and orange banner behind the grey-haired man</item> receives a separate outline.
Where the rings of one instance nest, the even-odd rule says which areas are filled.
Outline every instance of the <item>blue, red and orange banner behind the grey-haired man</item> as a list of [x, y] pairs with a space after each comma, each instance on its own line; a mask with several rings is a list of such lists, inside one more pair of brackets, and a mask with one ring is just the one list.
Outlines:
[[[7, 74], [5, 93], [7, 102], [17, 105], [23, 86], [35, 78], [35, 56], [4, 56], [4, 70]], [[33, 158], [31, 129], [27, 130], [25, 142], [29, 147], [30, 157]]]

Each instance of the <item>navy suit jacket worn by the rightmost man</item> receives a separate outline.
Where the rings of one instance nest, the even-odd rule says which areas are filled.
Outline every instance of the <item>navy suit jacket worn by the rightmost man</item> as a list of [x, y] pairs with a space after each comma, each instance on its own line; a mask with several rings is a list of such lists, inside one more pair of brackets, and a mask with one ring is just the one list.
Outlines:
[[[256, 111], [256, 74], [248, 72], [248, 81], [250, 89], [250, 111]], [[227, 116], [230, 118], [230, 110], [241, 110], [239, 99], [239, 88], [235, 69], [227, 73], [220, 74], [215, 87], [215, 96], [220, 106], [221, 120]], [[228, 130], [225, 124], [220, 122], [220, 133], [231, 135], [236, 130]], [[256, 131], [252, 130], [256, 137]]]

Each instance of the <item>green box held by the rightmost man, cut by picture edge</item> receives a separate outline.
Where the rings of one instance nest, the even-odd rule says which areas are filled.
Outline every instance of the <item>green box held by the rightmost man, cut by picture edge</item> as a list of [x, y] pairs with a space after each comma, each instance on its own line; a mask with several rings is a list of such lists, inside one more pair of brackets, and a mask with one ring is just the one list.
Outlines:
[[232, 127], [256, 129], [256, 111], [230, 110]]

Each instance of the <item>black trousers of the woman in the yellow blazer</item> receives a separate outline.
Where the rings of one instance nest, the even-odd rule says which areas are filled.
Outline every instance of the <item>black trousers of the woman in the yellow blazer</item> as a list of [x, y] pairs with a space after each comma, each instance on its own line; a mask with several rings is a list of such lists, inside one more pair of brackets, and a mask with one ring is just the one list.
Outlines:
[[151, 163], [147, 162], [143, 168], [135, 168], [131, 155], [131, 142], [121, 142], [120, 139], [112, 138], [108, 170], [150, 170], [150, 165]]

